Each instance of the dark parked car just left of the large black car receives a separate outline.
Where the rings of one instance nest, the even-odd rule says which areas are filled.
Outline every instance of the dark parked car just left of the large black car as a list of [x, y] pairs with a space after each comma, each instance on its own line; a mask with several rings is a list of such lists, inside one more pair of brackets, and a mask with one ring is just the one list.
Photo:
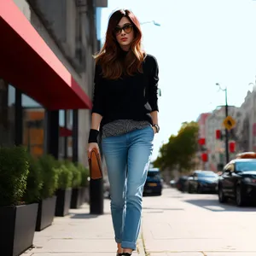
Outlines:
[[212, 171], [195, 171], [188, 178], [189, 193], [217, 193], [218, 174]]

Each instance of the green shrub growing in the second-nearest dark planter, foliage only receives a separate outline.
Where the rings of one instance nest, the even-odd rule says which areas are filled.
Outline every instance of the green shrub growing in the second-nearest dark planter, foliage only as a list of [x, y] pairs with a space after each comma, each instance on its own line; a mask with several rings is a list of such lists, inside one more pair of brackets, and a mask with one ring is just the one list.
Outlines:
[[50, 154], [45, 154], [38, 159], [38, 163], [42, 169], [43, 187], [40, 191], [40, 197], [42, 200], [55, 195], [56, 189], [58, 189], [58, 172], [56, 167], [60, 164]]

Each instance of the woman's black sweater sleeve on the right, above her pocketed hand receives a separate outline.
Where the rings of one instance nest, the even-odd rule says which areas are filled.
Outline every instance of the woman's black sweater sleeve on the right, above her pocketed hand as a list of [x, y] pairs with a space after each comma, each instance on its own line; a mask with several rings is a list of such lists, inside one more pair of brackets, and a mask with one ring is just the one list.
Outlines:
[[152, 56], [150, 60], [151, 72], [149, 76], [149, 86], [148, 86], [148, 103], [153, 111], [159, 111], [158, 108], [158, 73], [159, 67], [156, 59]]

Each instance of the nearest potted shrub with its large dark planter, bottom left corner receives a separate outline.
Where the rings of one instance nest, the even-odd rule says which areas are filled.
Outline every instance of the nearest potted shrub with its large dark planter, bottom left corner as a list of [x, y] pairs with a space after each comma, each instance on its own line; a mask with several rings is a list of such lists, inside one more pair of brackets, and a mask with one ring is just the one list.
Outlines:
[[38, 204], [24, 201], [29, 173], [26, 149], [0, 148], [0, 163], [0, 229], [4, 235], [0, 252], [16, 256], [32, 247]]

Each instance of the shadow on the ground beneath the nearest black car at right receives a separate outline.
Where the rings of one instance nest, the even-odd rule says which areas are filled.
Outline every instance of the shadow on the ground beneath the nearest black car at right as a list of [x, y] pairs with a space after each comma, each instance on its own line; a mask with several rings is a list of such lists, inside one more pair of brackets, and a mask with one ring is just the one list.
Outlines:
[[228, 201], [225, 204], [219, 203], [217, 199], [195, 199], [184, 200], [184, 202], [212, 212], [256, 212], [255, 207], [236, 207], [234, 201]]

